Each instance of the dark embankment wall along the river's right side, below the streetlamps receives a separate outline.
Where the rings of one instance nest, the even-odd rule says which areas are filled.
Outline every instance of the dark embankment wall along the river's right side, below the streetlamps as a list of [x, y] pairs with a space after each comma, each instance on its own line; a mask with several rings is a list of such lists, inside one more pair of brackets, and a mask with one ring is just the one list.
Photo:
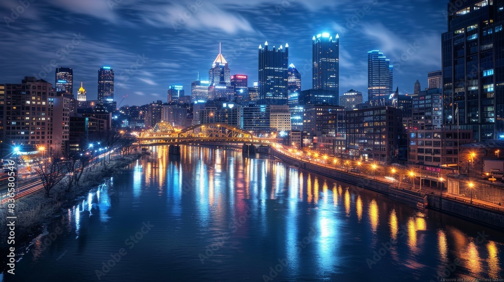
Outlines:
[[333, 179], [341, 180], [349, 184], [356, 185], [368, 190], [387, 195], [391, 199], [400, 200], [411, 205], [425, 204], [427, 208], [437, 210], [438, 212], [455, 216], [480, 225], [504, 231], [504, 214], [487, 208], [470, 205], [460, 200], [443, 197], [440, 200], [439, 195], [428, 194], [426, 191], [412, 191], [392, 187], [390, 183], [373, 180], [362, 177], [357, 174], [326, 168], [320, 165], [303, 162], [301, 160], [284, 155], [282, 152], [270, 148], [270, 155], [287, 164], [315, 172]]

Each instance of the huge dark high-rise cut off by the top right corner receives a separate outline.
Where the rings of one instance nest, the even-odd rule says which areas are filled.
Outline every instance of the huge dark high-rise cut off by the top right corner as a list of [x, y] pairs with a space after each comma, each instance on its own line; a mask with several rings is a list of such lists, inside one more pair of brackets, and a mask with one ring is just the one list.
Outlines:
[[504, 139], [502, 4], [450, 0], [448, 32], [442, 35], [445, 122], [471, 130], [480, 142]]

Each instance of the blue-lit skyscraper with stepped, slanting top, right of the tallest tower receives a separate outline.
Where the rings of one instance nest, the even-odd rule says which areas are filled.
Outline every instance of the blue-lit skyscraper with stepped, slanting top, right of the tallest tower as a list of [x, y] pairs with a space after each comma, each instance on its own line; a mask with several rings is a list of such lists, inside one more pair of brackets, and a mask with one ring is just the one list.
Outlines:
[[392, 93], [393, 67], [378, 50], [367, 52], [367, 100], [388, 98]]

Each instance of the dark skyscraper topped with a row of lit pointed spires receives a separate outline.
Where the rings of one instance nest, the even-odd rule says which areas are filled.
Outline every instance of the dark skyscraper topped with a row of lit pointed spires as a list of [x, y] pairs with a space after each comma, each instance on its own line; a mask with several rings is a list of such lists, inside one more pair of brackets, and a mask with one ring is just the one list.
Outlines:
[[289, 44], [272, 49], [259, 45], [259, 103], [287, 105]]

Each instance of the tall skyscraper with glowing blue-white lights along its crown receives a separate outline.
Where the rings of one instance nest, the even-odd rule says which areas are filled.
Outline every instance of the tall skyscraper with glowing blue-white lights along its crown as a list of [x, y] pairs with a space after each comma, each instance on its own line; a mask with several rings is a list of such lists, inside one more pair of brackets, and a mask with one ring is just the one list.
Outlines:
[[334, 91], [339, 95], [339, 35], [324, 32], [313, 36], [313, 89]]

